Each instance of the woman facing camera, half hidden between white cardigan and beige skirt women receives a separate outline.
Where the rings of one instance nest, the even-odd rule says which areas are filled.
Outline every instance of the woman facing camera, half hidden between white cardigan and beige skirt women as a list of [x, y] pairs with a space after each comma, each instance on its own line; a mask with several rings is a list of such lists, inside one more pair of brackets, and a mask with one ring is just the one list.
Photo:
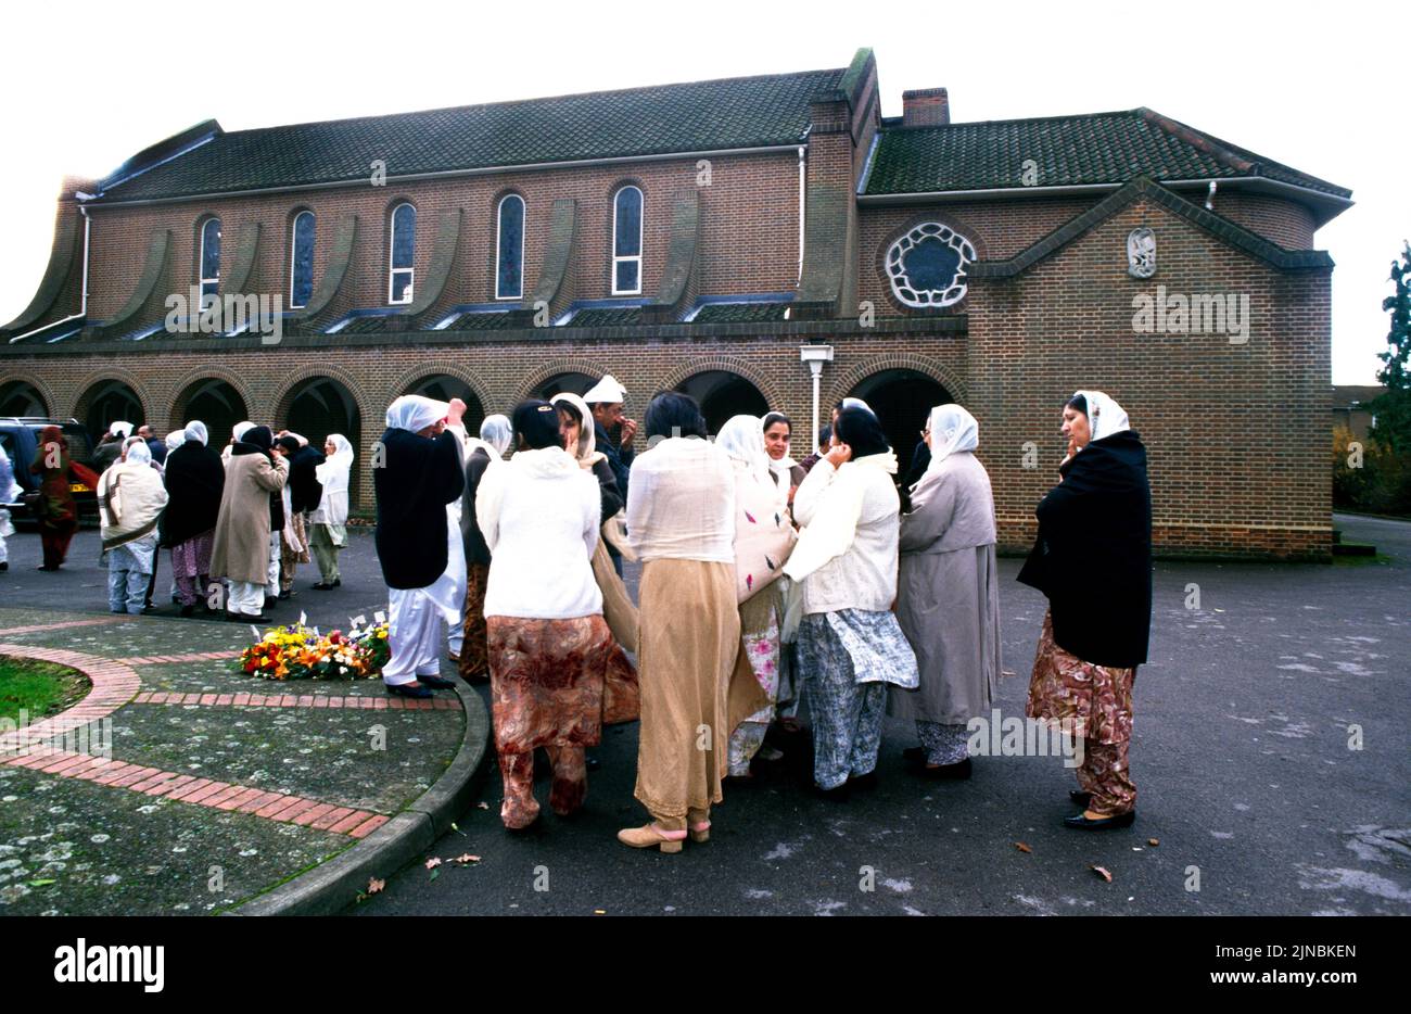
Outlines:
[[[607, 524], [625, 504], [607, 455], [597, 449], [593, 411], [587, 401], [571, 393], [556, 394], [549, 404], [559, 412], [559, 432], [563, 436], [564, 451], [579, 462], [580, 469], [590, 472], [598, 482], [602, 503], [600, 524]], [[607, 620], [614, 638], [602, 699], [604, 722], [634, 722], [641, 700], [636, 667], [622, 650], [636, 651], [636, 606], [632, 604], [626, 585], [612, 566], [612, 558], [601, 534], [593, 551], [593, 579], [602, 592], [602, 619]]]

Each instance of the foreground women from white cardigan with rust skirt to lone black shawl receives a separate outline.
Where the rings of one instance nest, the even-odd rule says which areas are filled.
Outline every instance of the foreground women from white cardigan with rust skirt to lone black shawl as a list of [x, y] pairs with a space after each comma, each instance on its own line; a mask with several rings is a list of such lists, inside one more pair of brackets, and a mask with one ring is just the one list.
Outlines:
[[[468, 580], [483, 595], [466, 599], [461, 671], [490, 676], [507, 828], [539, 816], [538, 747], [553, 765], [550, 806], [567, 816], [587, 794], [584, 750], [604, 724], [639, 717], [634, 794], [650, 819], [618, 839], [662, 852], [707, 840], [722, 785], [749, 775], [800, 686], [824, 797], [876, 782], [888, 713], [916, 722], [921, 746], [906, 756], [921, 777], [969, 777], [967, 723], [991, 717], [1000, 672], [995, 506], [969, 412], [931, 410], [906, 514], [896, 455], [856, 400], [806, 470], [787, 456], [786, 417], [739, 415], [711, 441], [691, 398], [658, 394], [625, 504], [580, 398], [525, 401], [508, 422], [508, 439], [483, 431], [454, 494], [474, 537], [467, 561], [483, 568]], [[440, 439], [433, 429], [418, 435]], [[1065, 405], [1062, 432], [1070, 455], [1020, 575], [1051, 602], [1029, 713], [1085, 740], [1084, 812], [1070, 826], [1125, 826], [1130, 688], [1150, 620], [1144, 451], [1098, 391]], [[639, 607], [604, 547], [624, 520]]]

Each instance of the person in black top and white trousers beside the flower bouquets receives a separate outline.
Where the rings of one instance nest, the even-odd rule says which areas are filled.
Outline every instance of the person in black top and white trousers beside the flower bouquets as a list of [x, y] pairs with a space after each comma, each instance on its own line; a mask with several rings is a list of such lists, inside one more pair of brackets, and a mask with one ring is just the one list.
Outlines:
[[453, 686], [442, 679], [443, 626], [454, 623], [461, 603], [459, 582], [446, 573], [452, 532], [446, 504], [461, 496], [466, 473], [460, 441], [446, 432], [459, 425], [466, 402], [432, 401], [404, 394], [387, 410], [387, 429], [373, 448], [373, 490], [377, 494], [377, 559], [391, 604], [388, 647], [382, 667], [389, 693], [426, 698], [428, 686]]

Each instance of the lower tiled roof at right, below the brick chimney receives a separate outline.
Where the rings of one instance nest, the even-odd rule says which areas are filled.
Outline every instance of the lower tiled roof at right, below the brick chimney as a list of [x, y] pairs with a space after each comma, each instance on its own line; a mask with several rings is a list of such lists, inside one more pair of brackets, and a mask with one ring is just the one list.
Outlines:
[[880, 134], [865, 195], [1024, 188], [1024, 162], [1038, 186], [1158, 181], [1276, 179], [1336, 198], [1352, 191], [1188, 127], [1150, 109], [940, 127], [889, 127]]

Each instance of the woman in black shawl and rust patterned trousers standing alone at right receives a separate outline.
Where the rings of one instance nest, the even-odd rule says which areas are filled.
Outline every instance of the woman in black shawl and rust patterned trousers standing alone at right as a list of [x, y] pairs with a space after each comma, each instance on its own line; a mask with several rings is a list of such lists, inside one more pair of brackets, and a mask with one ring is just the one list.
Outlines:
[[1146, 446], [1102, 391], [1064, 404], [1068, 455], [1034, 508], [1038, 537], [1019, 580], [1048, 599], [1029, 684], [1030, 717], [1082, 740], [1079, 830], [1127, 828], [1132, 684], [1151, 633], [1151, 486]]

